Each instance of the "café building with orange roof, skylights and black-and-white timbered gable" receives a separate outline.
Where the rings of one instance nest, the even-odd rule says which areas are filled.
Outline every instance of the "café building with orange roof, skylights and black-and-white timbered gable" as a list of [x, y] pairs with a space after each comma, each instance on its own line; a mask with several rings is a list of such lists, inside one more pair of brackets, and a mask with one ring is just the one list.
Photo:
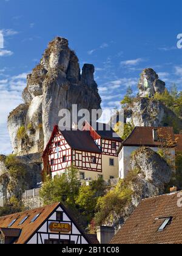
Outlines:
[[1, 244], [95, 244], [60, 203], [0, 218]]

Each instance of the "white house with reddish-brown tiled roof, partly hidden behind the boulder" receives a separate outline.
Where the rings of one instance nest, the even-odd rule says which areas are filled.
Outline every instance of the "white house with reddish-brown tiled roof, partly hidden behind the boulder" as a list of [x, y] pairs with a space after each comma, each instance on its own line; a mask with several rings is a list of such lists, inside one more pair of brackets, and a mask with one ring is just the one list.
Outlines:
[[118, 150], [119, 177], [124, 179], [132, 169], [131, 155], [141, 147], [148, 147], [155, 152], [167, 151], [167, 157], [175, 164], [175, 135], [172, 127], [135, 127]]

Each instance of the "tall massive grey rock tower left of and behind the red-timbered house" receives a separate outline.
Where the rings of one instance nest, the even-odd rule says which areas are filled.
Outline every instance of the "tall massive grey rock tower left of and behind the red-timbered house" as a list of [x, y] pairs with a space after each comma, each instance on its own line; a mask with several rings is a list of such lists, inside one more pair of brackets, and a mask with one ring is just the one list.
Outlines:
[[[94, 71], [93, 65], [85, 64], [80, 72], [78, 58], [66, 39], [56, 37], [49, 43], [41, 62], [27, 76], [22, 93], [24, 104], [8, 117], [15, 154], [41, 152], [61, 119], [60, 110], [72, 113], [73, 104], [77, 104], [78, 111], [85, 108], [90, 113], [101, 108]], [[26, 133], [21, 140], [17, 137], [19, 127], [25, 127]]]

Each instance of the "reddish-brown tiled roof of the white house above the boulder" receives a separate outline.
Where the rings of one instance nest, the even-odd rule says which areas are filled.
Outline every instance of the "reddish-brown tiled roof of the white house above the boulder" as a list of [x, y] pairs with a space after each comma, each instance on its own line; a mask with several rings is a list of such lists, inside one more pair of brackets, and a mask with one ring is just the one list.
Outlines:
[[[158, 140], [153, 139], [153, 129], [157, 130]], [[135, 127], [129, 137], [123, 141], [123, 146], [160, 147], [163, 140], [169, 142], [169, 148], [176, 146], [172, 127]]]

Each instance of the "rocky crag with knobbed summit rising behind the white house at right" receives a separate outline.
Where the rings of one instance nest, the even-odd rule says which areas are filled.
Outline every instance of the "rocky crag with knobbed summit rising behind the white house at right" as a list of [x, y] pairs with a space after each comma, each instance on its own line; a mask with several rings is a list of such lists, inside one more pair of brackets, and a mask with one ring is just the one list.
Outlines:
[[162, 94], [166, 84], [158, 79], [157, 73], [151, 68], [144, 69], [138, 83], [139, 93], [132, 104], [124, 109], [126, 123], [134, 126], [172, 126], [175, 132], [182, 129], [182, 121], [163, 102], [155, 99], [156, 93]]

